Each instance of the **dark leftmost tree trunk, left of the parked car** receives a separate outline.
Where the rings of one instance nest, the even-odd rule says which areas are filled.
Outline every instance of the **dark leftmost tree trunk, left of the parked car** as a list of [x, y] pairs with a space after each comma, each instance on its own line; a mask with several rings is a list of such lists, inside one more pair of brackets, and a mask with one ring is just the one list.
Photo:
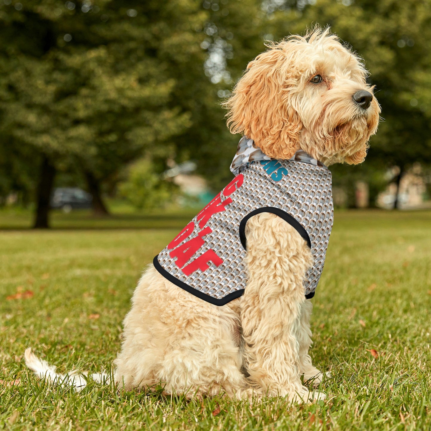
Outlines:
[[33, 228], [47, 229], [48, 215], [50, 211], [50, 197], [54, 184], [56, 169], [47, 156], [44, 156], [41, 164], [39, 183], [37, 184], [37, 208]]

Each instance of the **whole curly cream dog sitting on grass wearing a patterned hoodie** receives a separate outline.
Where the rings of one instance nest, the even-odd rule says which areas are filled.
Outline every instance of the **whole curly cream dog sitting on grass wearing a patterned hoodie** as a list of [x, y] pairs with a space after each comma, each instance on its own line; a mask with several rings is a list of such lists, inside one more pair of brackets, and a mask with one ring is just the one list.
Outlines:
[[[166, 393], [313, 400], [311, 302], [332, 225], [326, 166], [360, 163], [380, 108], [361, 60], [329, 30], [247, 66], [228, 125], [234, 180], [154, 259], [124, 320], [115, 380]], [[26, 351], [37, 374], [47, 364]]]

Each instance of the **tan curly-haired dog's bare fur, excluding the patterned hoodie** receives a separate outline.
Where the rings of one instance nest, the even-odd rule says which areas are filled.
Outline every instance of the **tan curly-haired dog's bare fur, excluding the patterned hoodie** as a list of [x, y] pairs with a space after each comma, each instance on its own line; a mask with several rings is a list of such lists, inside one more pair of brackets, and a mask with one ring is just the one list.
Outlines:
[[[366, 74], [328, 30], [271, 44], [226, 102], [231, 132], [247, 135], [274, 159], [302, 149], [326, 165], [360, 163], [380, 112]], [[199, 398], [324, 398], [300, 380], [322, 379], [309, 356], [312, 304], [303, 279], [310, 248], [272, 213], [253, 216], [245, 233], [247, 287], [226, 305], [205, 302], [147, 268], [124, 320], [114, 376], [120, 386], [161, 383], [168, 394]], [[47, 371], [30, 350], [26, 360], [37, 374]]]

